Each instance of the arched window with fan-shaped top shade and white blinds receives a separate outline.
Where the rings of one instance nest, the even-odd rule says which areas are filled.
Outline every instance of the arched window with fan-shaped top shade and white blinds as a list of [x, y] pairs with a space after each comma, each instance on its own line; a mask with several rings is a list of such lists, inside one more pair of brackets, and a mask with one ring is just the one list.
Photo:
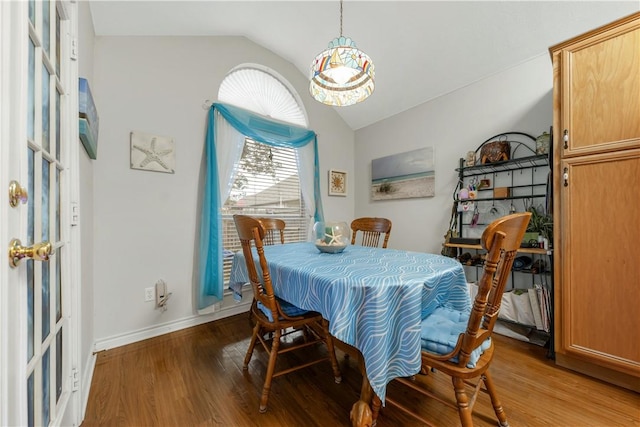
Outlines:
[[[218, 100], [308, 127], [306, 112], [295, 89], [278, 73], [261, 65], [243, 64], [232, 69], [220, 85]], [[231, 194], [222, 206], [226, 251], [240, 250], [234, 214], [282, 219], [286, 223], [285, 242], [307, 239], [310, 218], [298, 179], [296, 150], [246, 138], [235, 172]], [[223, 261], [225, 283], [229, 280], [231, 261], [231, 257]]]

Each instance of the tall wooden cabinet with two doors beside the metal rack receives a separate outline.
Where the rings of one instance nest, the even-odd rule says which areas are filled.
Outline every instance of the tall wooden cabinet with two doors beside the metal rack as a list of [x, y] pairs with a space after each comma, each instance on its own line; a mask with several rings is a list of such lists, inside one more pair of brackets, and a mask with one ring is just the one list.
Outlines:
[[549, 50], [556, 363], [640, 391], [640, 13]]

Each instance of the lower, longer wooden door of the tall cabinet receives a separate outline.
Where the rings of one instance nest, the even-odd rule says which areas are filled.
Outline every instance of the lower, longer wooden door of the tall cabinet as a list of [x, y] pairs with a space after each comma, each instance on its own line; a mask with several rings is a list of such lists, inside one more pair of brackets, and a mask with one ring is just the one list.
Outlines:
[[560, 351], [640, 376], [640, 150], [562, 166]]

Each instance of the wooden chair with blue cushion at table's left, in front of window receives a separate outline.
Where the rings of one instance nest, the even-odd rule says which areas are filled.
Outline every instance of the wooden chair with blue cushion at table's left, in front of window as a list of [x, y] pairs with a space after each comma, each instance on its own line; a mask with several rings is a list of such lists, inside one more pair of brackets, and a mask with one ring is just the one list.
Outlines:
[[[338, 368], [333, 340], [329, 334], [328, 322], [323, 319], [320, 313], [300, 309], [274, 295], [269, 266], [264, 255], [263, 238], [265, 231], [262, 224], [257, 219], [246, 215], [234, 215], [233, 220], [238, 230], [249, 281], [256, 300], [256, 304], [251, 307], [253, 318], [256, 319], [256, 325], [253, 328], [251, 342], [244, 358], [243, 369], [248, 369], [257, 341], [260, 341], [260, 344], [269, 354], [269, 363], [262, 387], [262, 397], [260, 398], [260, 412], [264, 413], [267, 410], [271, 381], [275, 377], [327, 360], [331, 362], [335, 382], [340, 383], [342, 377]], [[256, 268], [254, 253], [251, 249], [252, 245], [256, 248], [260, 272]], [[286, 342], [281, 340], [287, 335], [287, 331], [297, 332], [301, 329], [304, 334], [300, 334], [299, 337], [286, 340]], [[299, 365], [279, 371], [275, 370], [276, 360], [279, 355], [321, 342], [324, 342], [327, 346], [326, 356], [318, 357], [312, 361], [304, 361]]]

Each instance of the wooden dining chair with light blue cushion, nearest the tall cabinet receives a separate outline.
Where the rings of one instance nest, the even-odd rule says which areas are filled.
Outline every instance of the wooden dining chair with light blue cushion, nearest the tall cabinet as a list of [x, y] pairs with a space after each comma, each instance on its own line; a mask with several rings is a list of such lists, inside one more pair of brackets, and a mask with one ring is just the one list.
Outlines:
[[[489, 224], [482, 234], [482, 248], [487, 254], [478, 283], [478, 294], [470, 313], [452, 310], [444, 303], [422, 321], [421, 372], [426, 374], [433, 370], [450, 376], [455, 404], [427, 390], [421, 382], [428, 381], [428, 377], [420, 381], [415, 377], [395, 380], [457, 409], [463, 427], [473, 426], [471, 415], [479, 391], [489, 394], [498, 425], [509, 425], [489, 373], [494, 351], [490, 337], [498, 319], [507, 278], [530, 216], [530, 212], [504, 216]], [[473, 389], [471, 398], [467, 395], [468, 388]], [[434, 425], [389, 396], [386, 402], [427, 425]], [[381, 406], [377, 396], [374, 396], [372, 406], [375, 423]]]

